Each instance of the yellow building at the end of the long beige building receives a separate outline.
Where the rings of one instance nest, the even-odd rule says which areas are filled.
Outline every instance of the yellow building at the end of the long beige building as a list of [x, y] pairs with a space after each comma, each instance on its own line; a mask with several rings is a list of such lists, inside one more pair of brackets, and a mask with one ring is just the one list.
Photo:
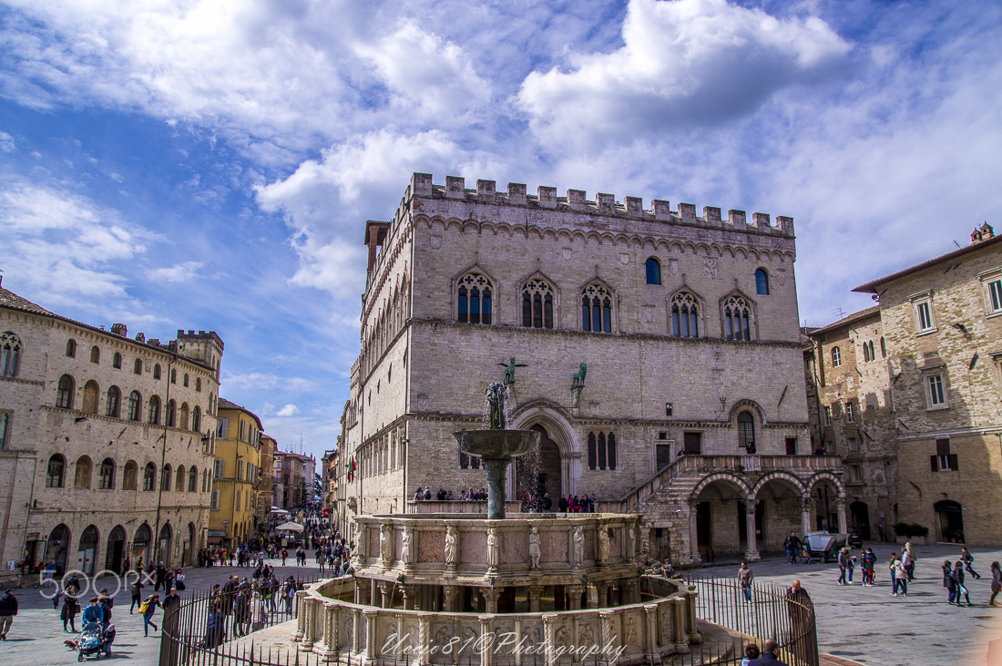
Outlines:
[[234, 548], [257, 534], [261, 420], [220, 398], [212, 464], [208, 543]]

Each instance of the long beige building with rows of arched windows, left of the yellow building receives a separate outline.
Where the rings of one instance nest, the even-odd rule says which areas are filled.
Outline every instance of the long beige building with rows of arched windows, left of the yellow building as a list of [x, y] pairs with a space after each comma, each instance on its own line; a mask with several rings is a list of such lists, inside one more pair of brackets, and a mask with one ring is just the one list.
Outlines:
[[5, 569], [190, 564], [204, 544], [222, 341], [126, 332], [0, 288]]

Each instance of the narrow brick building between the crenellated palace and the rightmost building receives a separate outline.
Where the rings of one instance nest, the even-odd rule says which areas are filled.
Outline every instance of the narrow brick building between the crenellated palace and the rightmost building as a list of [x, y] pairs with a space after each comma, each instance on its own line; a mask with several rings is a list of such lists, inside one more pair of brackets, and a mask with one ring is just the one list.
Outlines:
[[[843, 460], [850, 529], [865, 540], [884, 541], [896, 522], [898, 455], [893, 377], [880, 306], [809, 335], [812, 440], [816, 448]], [[834, 524], [835, 499], [821, 495], [814, 500], [828, 507], [818, 513]]]

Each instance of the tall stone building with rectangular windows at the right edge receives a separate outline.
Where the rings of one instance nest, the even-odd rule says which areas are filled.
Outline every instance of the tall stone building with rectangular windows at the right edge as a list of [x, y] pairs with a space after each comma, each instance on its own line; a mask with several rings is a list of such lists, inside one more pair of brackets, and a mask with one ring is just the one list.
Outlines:
[[1002, 238], [985, 224], [970, 245], [855, 290], [880, 301], [886, 358], [872, 324], [856, 354], [866, 344], [884, 367], [885, 397], [875, 381], [862, 400], [894, 412], [896, 521], [1002, 543]]

